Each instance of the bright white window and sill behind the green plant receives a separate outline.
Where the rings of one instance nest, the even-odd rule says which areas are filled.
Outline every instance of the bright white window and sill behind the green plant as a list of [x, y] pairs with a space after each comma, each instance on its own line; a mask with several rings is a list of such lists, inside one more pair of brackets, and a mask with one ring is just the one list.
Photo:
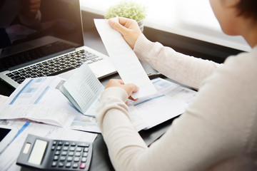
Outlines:
[[[83, 10], [104, 15], [106, 9], [121, 0], [81, 0]], [[146, 6], [145, 26], [202, 41], [250, 51], [241, 36], [227, 36], [213, 14], [208, 0], [136, 0]]]

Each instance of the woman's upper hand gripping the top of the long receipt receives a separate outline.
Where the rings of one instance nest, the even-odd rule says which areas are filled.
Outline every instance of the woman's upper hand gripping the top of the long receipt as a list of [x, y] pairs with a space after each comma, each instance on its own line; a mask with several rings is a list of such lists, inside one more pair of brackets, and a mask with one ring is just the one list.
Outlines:
[[133, 49], [138, 36], [141, 34], [138, 23], [133, 19], [126, 19], [124, 17], [119, 17], [119, 23], [117, 23], [114, 19], [109, 19], [108, 22], [112, 28], [121, 33], [125, 41]]

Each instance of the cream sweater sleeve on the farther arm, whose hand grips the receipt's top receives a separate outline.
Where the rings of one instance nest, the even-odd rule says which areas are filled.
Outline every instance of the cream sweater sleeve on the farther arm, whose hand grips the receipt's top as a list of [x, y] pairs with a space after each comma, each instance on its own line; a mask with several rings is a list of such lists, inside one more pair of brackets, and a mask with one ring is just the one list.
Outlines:
[[186, 56], [162, 46], [161, 43], [148, 41], [143, 34], [138, 37], [133, 51], [141, 61], [148, 63], [164, 76], [196, 89], [220, 66], [213, 61]]

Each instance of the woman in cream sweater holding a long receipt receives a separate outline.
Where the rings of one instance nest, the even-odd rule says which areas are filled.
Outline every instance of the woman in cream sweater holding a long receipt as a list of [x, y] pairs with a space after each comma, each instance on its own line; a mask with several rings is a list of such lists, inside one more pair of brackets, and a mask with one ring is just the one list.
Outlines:
[[133, 129], [126, 106], [138, 88], [109, 81], [96, 119], [116, 170], [257, 170], [256, 2], [210, 0], [223, 32], [243, 36], [252, 47], [223, 64], [148, 41], [130, 19], [119, 18], [119, 24], [109, 20], [138, 58], [168, 78], [198, 88], [186, 112], [147, 147]]

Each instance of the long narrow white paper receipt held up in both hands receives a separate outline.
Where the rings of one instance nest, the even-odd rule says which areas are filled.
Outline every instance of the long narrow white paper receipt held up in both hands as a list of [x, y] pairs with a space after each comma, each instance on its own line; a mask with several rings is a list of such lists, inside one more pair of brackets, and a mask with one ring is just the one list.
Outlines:
[[121, 33], [111, 28], [107, 19], [94, 19], [94, 22], [121, 79], [124, 83], [134, 83], [139, 87], [138, 92], [133, 93], [131, 96], [133, 98], [141, 98], [156, 93], [156, 88], [143, 70], [143, 66], [141, 66], [136, 54], [121, 36]]

